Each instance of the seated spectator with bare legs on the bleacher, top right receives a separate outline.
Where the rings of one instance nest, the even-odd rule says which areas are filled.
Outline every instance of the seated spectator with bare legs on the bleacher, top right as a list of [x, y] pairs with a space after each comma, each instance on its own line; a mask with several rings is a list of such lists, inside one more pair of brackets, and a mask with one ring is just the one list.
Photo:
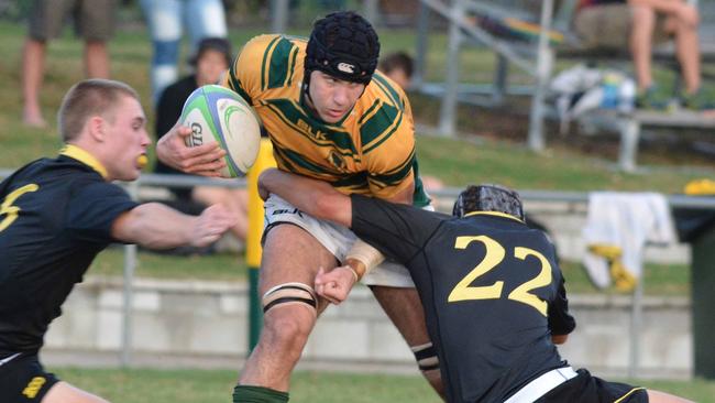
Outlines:
[[641, 108], [662, 109], [668, 99], [658, 92], [651, 72], [651, 50], [675, 40], [685, 88], [680, 100], [685, 108], [714, 107], [701, 86], [697, 9], [673, 0], [581, 0], [575, 30], [590, 46], [630, 47]]

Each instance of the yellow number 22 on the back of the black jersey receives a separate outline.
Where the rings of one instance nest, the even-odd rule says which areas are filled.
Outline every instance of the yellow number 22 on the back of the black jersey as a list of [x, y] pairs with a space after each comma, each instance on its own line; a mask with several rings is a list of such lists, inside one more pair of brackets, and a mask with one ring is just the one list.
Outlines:
[[[496, 299], [502, 297], [504, 281], [497, 281], [492, 285], [481, 286], [470, 286], [470, 284], [502, 263], [506, 257], [506, 250], [502, 244], [499, 244], [499, 242], [487, 236], [457, 237], [454, 249], [466, 249], [466, 247], [474, 241], [484, 243], [486, 253], [484, 254], [484, 259], [482, 259], [482, 261], [459, 283], [457, 283], [447, 299], [450, 303], [473, 299]], [[547, 303], [529, 292], [551, 283], [551, 264], [543, 254], [534, 249], [522, 247], [514, 248], [515, 258], [524, 261], [529, 255], [536, 257], [541, 262], [541, 271], [536, 277], [514, 288], [507, 298], [530, 305], [539, 311], [541, 315], [547, 316]]]

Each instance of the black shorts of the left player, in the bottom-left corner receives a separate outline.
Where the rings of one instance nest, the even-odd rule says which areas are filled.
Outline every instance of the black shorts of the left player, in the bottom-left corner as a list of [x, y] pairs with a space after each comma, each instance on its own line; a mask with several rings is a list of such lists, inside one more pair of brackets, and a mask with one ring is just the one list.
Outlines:
[[0, 402], [40, 403], [57, 382], [42, 368], [37, 355], [20, 355], [0, 367]]

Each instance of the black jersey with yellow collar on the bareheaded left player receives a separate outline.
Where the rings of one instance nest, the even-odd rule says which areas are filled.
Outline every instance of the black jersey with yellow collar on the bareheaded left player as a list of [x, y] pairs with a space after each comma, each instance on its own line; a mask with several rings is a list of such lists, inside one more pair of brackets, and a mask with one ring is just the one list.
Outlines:
[[36, 352], [92, 259], [136, 206], [103, 167], [69, 145], [0, 184], [0, 358]]

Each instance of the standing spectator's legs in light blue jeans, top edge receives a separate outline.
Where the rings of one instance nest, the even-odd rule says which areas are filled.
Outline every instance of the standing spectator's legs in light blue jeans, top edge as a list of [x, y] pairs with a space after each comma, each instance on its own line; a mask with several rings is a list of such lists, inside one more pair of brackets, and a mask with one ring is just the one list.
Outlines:
[[191, 53], [205, 37], [226, 37], [226, 10], [221, 0], [141, 0], [154, 55], [152, 100], [158, 101], [166, 86], [178, 79], [183, 26], [188, 28]]

